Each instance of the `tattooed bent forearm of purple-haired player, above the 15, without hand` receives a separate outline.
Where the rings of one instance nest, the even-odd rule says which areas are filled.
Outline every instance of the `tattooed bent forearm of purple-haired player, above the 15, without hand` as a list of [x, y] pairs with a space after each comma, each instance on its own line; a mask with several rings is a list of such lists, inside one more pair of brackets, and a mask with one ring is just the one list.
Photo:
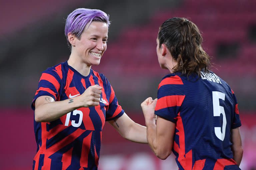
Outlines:
[[35, 121], [51, 122], [77, 108], [80, 108], [77, 98], [44, 103], [40, 106], [36, 106]]

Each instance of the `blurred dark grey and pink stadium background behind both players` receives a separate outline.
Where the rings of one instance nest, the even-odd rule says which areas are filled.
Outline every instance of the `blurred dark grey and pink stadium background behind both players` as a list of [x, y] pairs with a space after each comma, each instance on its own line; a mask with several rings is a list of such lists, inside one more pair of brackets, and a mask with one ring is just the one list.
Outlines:
[[[158, 27], [186, 17], [202, 32], [212, 70], [234, 90], [242, 120], [244, 156], [240, 168], [256, 168], [256, 1], [255, 0], [1, 0], [0, 1], [1, 170], [32, 169], [36, 153], [30, 103], [41, 72], [66, 61], [65, 18], [75, 8], [110, 14], [108, 48], [99, 66], [119, 104], [144, 125], [140, 103], [157, 96], [167, 74], [159, 67]], [[146, 144], [129, 142], [105, 124], [100, 170], [177, 169], [173, 155], [157, 159]]]

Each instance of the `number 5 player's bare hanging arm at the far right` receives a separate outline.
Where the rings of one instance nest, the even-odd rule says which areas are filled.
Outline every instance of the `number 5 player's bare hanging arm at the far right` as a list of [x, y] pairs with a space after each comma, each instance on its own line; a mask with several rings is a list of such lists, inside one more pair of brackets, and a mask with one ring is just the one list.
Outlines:
[[234, 160], [239, 166], [243, 157], [243, 148], [242, 148], [242, 140], [240, 135], [240, 129], [234, 128], [231, 132], [231, 140], [232, 140], [232, 151], [234, 155]]

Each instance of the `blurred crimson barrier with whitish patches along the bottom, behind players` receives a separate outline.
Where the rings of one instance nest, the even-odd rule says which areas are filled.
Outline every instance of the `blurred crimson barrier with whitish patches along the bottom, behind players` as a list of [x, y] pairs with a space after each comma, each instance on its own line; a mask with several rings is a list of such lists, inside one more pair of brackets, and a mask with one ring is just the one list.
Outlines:
[[[36, 141], [31, 109], [2, 109], [5, 115], [0, 124], [0, 169], [32, 169]], [[144, 125], [142, 113], [128, 113], [135, 122]], [[243, 142], [242, 170], [256, 167], [256, 113], [240, 113]], [[108, 123], [102, 133], [99, 170], [166, 170], [177, 169], [174, 155], [158, 159], [147, 144], [130, 142], [120, 136]]]

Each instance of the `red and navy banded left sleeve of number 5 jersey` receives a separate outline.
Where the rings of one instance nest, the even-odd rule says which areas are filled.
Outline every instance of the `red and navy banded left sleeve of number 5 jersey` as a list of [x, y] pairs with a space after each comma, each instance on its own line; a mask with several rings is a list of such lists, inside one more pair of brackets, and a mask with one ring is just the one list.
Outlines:
[[185, 94], [183, 82], [178, 75], [164, 78], [158, 86], [155, 115], [173, 123], [177, 122]]

